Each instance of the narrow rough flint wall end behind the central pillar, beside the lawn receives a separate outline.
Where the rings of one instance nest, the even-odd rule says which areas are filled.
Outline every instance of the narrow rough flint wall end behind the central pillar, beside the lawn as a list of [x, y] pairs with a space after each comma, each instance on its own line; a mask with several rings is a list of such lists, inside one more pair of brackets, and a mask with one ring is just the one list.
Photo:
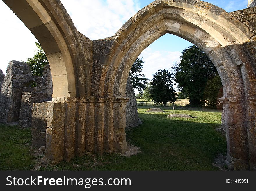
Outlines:
[[134, 94], [134, 89], [131, 83], [130, 76], [127, 79], [126, 83], [126, 97], [129, 97], [130, 100], [126, 103], [126, 127], [128, 127], [131, 124], [134, 124], [138, 121], [138, 110], [137, 110], [137, 104], [136, 104], [136, 98]]

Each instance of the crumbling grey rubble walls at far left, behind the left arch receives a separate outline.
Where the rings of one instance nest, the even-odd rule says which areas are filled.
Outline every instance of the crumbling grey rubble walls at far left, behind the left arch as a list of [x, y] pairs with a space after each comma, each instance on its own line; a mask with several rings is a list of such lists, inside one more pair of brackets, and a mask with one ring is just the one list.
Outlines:
[[[33, 76], [27, 63], [10, 61], [6, 72], [1, 88], [0, 123], [19, 120], [20, 126], [30, 127], [33, 103], [51, 97], [50, 67], [45, 66], [44, 77]], [[32, 82], [37, 87], [31, 87]]]

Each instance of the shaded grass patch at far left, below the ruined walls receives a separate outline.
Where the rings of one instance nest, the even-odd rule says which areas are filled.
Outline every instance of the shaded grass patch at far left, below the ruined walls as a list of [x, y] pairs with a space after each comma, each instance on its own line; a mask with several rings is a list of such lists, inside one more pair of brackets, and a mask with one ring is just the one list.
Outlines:
[[35, 165], [29, 151], [30, 128], [0, 125], [0, 170], [31, 170]]

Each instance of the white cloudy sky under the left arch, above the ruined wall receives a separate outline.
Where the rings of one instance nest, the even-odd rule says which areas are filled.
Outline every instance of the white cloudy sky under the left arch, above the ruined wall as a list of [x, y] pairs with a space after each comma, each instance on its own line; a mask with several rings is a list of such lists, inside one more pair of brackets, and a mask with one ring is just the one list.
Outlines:
[[0, 1], [0, 17], [0, 69], [5, 74], [10, 60], [26, 61], [34, 55], [37, 40], [3, 1]]

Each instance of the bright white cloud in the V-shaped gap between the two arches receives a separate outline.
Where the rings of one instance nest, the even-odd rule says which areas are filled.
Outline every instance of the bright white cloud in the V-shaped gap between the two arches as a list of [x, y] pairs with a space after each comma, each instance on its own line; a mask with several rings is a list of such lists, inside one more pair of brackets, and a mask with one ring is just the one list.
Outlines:
[[62, 0], [77, 30], [91, 40], [113, 36], [140, 10], [136, 1]]

